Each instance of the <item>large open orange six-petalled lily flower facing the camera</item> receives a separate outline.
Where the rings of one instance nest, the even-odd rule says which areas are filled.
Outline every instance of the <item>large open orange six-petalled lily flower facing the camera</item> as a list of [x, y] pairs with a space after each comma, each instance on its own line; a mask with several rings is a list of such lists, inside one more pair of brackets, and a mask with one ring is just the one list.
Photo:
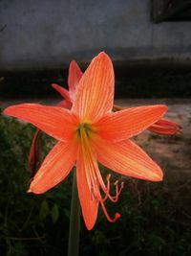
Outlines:
[[[100, 203], [117, 201], [122, 186], [116, 182], [116, 196], [110, 195], [110, 177], [105, 184], [98, 162], [121, 175], [160, 181], [159, 166], [131, 138], [156, 123], [166, 105], [147, 105], [112, 112], [114, 69], [111, 59], [100, 53], [94, 58], [76, 87], [71, 110], [36, 104], [12, 105], [4, 113], [42, 129], [58, 140], [33, 177], [29, 192], [45, 193], [60, 183], [76, 165], [78, 196], [87, 228], [94, 227]], [[103, 196], [104, 194], [104, 196]]]

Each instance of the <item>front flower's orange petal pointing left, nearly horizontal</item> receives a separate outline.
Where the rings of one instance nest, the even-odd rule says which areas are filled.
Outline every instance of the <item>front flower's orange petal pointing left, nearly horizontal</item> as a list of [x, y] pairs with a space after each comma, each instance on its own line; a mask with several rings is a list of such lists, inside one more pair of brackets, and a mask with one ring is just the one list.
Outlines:
[[57, 140], [68, 140], [74, 134], [74, 115], [62, 107], [37, 104], [11, 105], [4, 110], [4, 114], [27, 121]]

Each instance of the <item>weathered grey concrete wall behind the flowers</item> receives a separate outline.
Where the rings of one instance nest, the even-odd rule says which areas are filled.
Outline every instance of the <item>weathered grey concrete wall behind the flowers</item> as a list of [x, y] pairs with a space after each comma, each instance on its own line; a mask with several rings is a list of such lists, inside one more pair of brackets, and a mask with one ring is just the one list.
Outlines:
[[102, 50], [191, 58], [191, 22], [153, 24], [150, 12], [150, 0], [0, 0], [0, 71], [60, 68]]

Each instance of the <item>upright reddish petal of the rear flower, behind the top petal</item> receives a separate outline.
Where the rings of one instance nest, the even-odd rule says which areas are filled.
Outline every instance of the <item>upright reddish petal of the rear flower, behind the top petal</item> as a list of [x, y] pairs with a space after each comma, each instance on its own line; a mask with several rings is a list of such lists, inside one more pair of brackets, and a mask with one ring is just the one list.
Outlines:
[[69, 67], [69, 78], [68, 78], [68, 84], [69, 84], [69, 93], [70, 97], [73, 100], [74, 99], [74, 93], [75, 88], [78, 85], [83, 73], [77, 63], [73, 60], [71, 61], [70, 67]]

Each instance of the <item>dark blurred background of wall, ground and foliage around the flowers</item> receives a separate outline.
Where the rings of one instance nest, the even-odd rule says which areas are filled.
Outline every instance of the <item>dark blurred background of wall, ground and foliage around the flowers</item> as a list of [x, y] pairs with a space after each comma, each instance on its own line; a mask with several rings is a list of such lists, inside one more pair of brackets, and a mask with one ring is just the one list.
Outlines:
[[[191, 1], [189, 0], [0, 0], [0, 105], [54, 105], [51, 84], [68, 88], [75, 59], [84, 71], [105, 51], [114, 62], [116, 103], [166, 104], [167, 118], [183, 133], [136, 139], [164, 171], [154, 184], [125, 182], [96, 227], [81, 221], [79, 255], [191, 255]], [[26, 193], [28, 154], [35, 128], [1, 114], [0, 255], [66, 255], [71, 176], [45, 195]], [[41, 161], [55, 142], [40, 137]], [[102, 167], [101, 167], [102, 168]], [[108, 170], [102, 168], [106, 176]]]

